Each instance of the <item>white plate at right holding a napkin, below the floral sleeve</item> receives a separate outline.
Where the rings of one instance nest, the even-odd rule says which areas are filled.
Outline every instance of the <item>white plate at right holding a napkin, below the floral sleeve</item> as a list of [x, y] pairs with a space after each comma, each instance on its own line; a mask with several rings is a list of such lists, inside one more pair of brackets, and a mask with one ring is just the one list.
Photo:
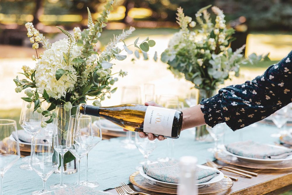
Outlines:
[[[271, 144], [267, 144], [267, 145], [275, 147], [275, 148], [287, 149], [287, 148], [282, 147], [282, 146], [275, 146], [275, 145], [271, 145]], [[286, 158], [280, 158], [280, 159], [261, 159], [261, 158], [250, 158], [250, 157], [245, 157], [245, 156], [239, 156], [239, 155], [236, 155], [234, 153], [227, 151], [226, 149], [224, 149], [223, 151], [230, 156], [235, 156], [243, 161], [248, 161], [248, 162], [253, 162], [253, 163], [281, 163], [283, 161], [291, 161], [292, 160], [292, 155], [289, 155]]]

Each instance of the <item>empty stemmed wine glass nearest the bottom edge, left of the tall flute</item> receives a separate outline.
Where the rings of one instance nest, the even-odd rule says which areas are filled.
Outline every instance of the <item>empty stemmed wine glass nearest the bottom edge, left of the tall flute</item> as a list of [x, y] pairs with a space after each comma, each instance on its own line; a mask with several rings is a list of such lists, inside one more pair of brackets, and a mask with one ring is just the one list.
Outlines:
[[43, 180], [43, 189], [32, 194], [47, 192], [46, 181], [60, 165], [59, 154], [55, 151], [58, 146], [58, 135], [40, 133], [33, 143], [31, 167]]

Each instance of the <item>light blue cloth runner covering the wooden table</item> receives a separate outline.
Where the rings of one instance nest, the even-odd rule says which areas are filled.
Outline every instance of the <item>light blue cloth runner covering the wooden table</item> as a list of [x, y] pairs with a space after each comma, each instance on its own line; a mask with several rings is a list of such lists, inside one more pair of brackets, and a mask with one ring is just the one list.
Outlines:
[[[233, 132], [227, 130], [223, 136], [225, 144], [253, 140], [261, 143], [273, 144], [279, 141], [277, 138], [270, 137], [270, 134], [276, 133], [275, 127], [266, 125], [252, 125], [244, 129]], [[135, 172], [139, 162], [143, 161], [142, 154], [138, 149], [124, 149], [121, 147], [121, 138], [111, 140], [102, 140], [95, 146], [88, 156], [88, 178], [97, 180], [100, 186], [98, 190], [106, 190], [117, 187], [119, 182], [129, 183], [129, 176]], [[175, 158], [192, 155], [198, 158], [198, 163], [206, 163], [206, 159], [214, 159], [213, 154], [207, 149], [214, 146], [214, 143], [201, 143], [194, 141], [194, 135], [185, 130], [180, 138], [175, 140], [174, 154]], [[150, 154], [150, 160], [158, 157], [164, 157], [167, 153], [167, 141], [160, 141], [158, 147]], [[82, 160], [81, 160], [82, 161]], [[21, 170], [19, 166], [23, 164], [20, 160], [13, 165], [4, 175], [4, 194], [25, 195], [32, 191], [39, 190], [42, 187], [42, 180], [34, 171]], [[81, 180], [84, 179], [85, 163], [81, 162]], [[52, 174], [47, 180], [47, 187], [60, 180], [60, 175]], [[64, 175], [64, 182], [74, 183], [77, 181], [77, 173]]]

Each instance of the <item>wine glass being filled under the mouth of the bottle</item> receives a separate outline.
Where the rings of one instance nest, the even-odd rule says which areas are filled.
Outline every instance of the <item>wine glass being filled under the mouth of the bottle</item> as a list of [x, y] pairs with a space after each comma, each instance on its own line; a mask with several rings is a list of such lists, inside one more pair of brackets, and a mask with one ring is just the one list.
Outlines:
[[67, 133], [66, 147], [78, 161], [77, 185], [80, 185], [80, 161], [100, 137], [93, 138], [91, 117], [86, 115], [72, 115], [70, 118], [69, 131]]

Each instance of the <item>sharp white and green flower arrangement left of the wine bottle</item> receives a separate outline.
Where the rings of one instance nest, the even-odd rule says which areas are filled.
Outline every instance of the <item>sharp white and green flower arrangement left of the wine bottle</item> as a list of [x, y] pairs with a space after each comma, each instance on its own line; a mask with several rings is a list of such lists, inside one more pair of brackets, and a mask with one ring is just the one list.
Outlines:
[[[144, 59], [147, 59], [149, 47], [155, 45], [155, 42], [149, 38], [141, 43], [138, 43], [139, 38], [137, 38], [133, 44], [128, 46], [124, 43], [123, 48], [117, 46], [135, 30], [134, 27], [114, 36], [103, 51], [97, 51], [95, 48], [102, 28], [106, 26], [107, 17], [113, 10], [113, 3], [114, 0], [107, 1], [105, 9], [95, 23], [93, 23], [88, 9], [88, 29], [84, 29], [82, 32], [79, 27], [74, 27], [72, 35], [58, 27], [68, 38], [52, 44], [34, 28], [32, 23], [25, 24], [32, 48], [36, 50], [36, 56], [32, 56], [32, 59], [37, 62], [34, 69], [27, 66], [22, 67], [22, 74], [26, 79], [20, 80], [18, 77], [14, 79], [17, 85], [15, 91], [21, 92], [25, 89], [27, 97], [22, 99], [34, 103], [34, 111], [49, 118], [46, 122], [42, 122], [42, 127], [53, 121], [54, 114], [50, 111], [55, 109], [56, 105], [65, 104], [72, 108], [72, 105], [86, 103], [88, 96], [96, 99], [94, 105], [100, 105], [105, 96], [110, 98], [117, 89], [112, 89], [114, 83], [118, 81], [114, 75], [119, 74], [121, 77], [127, 75], [127, 72], [123, 70], [112, 73], [114, 64], [111, 61], [113, 59], [124, 60], [127, 57], [120, 54], [121, 51], [125, 50], [128, 54], [133, 54], [128, 47], [134, 45], [138, 49], [134, 53], [135, 56], [139, 58], [140, 52], [142, 52]], [[39, 43], [45, 49], [43, 54], [37, 53]], [[41, 106], [44, 101], [50, 103], [47, 110]]]

